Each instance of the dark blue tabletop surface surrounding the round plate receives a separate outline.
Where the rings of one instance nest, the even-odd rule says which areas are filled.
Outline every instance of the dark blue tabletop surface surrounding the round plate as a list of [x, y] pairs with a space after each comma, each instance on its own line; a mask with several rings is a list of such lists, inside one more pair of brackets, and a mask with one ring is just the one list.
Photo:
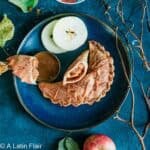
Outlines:
[[[130, 0], [130, 4], [126, 13], [132, 12], [135, 0]], [[38, 8], [41, 8], [43, 13], [39, 16], [36, 15], [35, 11], [29, 14], [23, 14], [18, 8], [13, 5], [8, 4], [6, 0], [0, 1], [0, 15], [7, 13], [7, 15], [13, 20], [16, 25], [15, 38], [8, 43], [7, 47], [10, 54], [15, 54], [19, 46], [19, 43], [22, 41], [23, 37], [28, 33], [28, 31], [36, 25], [38, 22], [52, 16], [53, 13], [60, 12], [82, 12], [90, 14], [93, 16], [100, 17], [105, 21], [105, 18], [102, 14], [100, 5], [97, 5], [96, 0], [86, 0], [83, 4], [77, 6], [64, 6], [55, 2], [55, 0], [45, 0], [40, 1]], [[131, 19], [136, 23], [135, 30], [138, 32], [140, 29], [139, 22], [136, 20], [140, 11], [134, 11], [134, 16]], [[144, 30], [144, 48], [147, 56], [150, 59], [149, 43], [150, 35], [147, 29]], [[132, 39], [131, 39], [132, 40]], [[0, 59], [5, 59], [6, 55], [3, 51], [0, 52]], [[141, 61], [137, 54], [135, 53], [135, 74], [143, 81], [144, 87], [146, 88], [150, 85], [149, 73], [143, 71]], [[136, 126], [139, 130], [143, 129], [144, 123], [148, 119], [148, 114], [146, 111], [146, 106], [142, 98], [142, 93], [140, 92], [139, 86], [136, 81], [133, 80], [133, 86], [136, 93], [136, 105], [135, 105], [135, 121]], [[128, 118], [129, 108], [130, 108], [130, 98], [128, 97], [121, 115]], [[15, 90], [13, 86], [13, 80], [11, 74], [5, 74], [0, 77], [0, 143], [41, 143], [43, 145], [42, 149], [55, 150], [57, 146], [57, 141], [67, 135], [68, 133], [58, 132], [51, 130], [39, 124], [33, 120], [22, 108], [20, 105]], [[113, 120], [112, 118], [108, 119], [101, 125], [93, 128], [91, 130], [76, 133], [72, 136], [79, 141], [80, 143], [92, 133], [104, 133], [109, 135], [115, 141], [118, 150], [140, 150], [138, 139], [133, 134], [131, 129], [120, 123]], [[150, 133], [145, 139], [147, 149], [150, 149]]]

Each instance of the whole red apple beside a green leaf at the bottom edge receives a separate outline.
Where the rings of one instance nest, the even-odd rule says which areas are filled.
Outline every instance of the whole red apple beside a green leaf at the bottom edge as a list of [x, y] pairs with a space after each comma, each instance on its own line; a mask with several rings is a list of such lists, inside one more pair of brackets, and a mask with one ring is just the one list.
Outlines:
[[86, 139], [83, 150], [116, 150], [116, 146], [108, 136], [96, 134]]

